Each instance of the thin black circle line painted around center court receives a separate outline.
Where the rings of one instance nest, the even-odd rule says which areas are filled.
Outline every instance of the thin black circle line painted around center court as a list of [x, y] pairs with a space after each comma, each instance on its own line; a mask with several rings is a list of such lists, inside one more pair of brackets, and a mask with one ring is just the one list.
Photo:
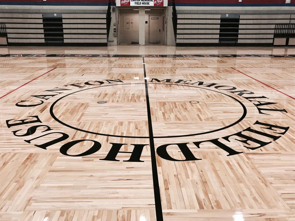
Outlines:
[[[98, 86], [98, 87], [107, 87], [107, 86], [114, 86], [114, 85], [127, 85], [127, 84], [145, 84], [145, 83], [126, 83], [126, 84], [108, 84], [108, 85], [103, 85], [103, 86]], [[196, 87], [196, 86], [191, 86], [191, 85], [179, 85], [179, 84], [166, 84], [166, 83], [148, 83], [148, 84], [164, 84], [164, 85], [178, 85], [178, 86], [187, 86], [187, 87]], [[97, 88], [97, 87], [91, 87], [91, 88], [86, 88], [86, 89], [83, 89], [81, 91], [85, 91], [85, 90], [89, 90], [89, 89], [93, 89], [93, 88]], [[211, 90], [209, 88], [203, 88], [203, 87], [196, 87], [196, 88], [201, 88], [201, 89], [205, 89], [205, 90], [209, 90], [209, 91], [214, 91], [214, 90]], [[89, 134], [96, 134], [96, 135], [102, 135], [102, 136], [109, 136], [109, 137], [120, 137], [120, 138], [149, 138], [149, 137], [135, 137], [135, 136], [120, 136], [120, 135], [112, 135], [112, 134], [100, 134], [100, 133], [94, 133], [94, 132], [91, 132], [91, 131], [87, 131], [87, 130], [82, 130], [80, 128], [76, 128], [76, 127], [73, 127], [73, 126], [70, 126], [62, 121], [60, 121], [54, 114], [53, 114], [53, 107], [54, 105], [61, 99], [63, 99], [64, 97], [66, 96], [69, 96], [69, 95], [72, 95], [72, 94], [75, 94], [77, 92], [80, 92], [80, 91], [74, 91], [73, 93], [70, 93], [70, 94], [67, 94], [59, 99], [57, 99], [56, 101], [54, 101], [51, 106], [50, 106], [50, 109], [49, 109], [49, 113], [50, 115], [52, 116], [52, 118], [54, 120], [56, 120], [57, 122], [59, 122], [60, 124], [66, 126], [66, 127], [69, 127], [69, 128], [72, 128], [74, 130], [79, 130], [79, 131], [82, 131], [82, 132], [85, 132], [85, 133], [89, 133]], [[238, 99], [230, 96], [230, 95], [227, 95], [225, 93], [222, 93], [220, 91], [214, 91], [214, 92], [217, 92], [217, 93], [220, 93], [220, 94], [223, 94], [223, 95], [226, 95], [232, 99], [234, 99], [235, 101], [237, 101], [242, 107], [243, 107], [243, 115], [240, 119], [238, 119], [236, 122], [228, 125], [228, 126], [225, 126], [225, 127], [222, 127], [222, 128], [219, 128], [219, 129], [216, 129], [216, 130], [211, 130], [211, 131], [207, 131], [207, 132], [202, 132], [202, 133], [197, 133], [197, 134], [187, 134], [187, 135], [178, 135], [178, 136], [160, 136], [160, 137], [154, 137], [154, 138], [176, 138], [176, 137], [190, 137], [190, 136], [195, 136], [195, 135], [201, 135], [201, 134], [210, 134], [210, 133], [214, 133], [216, 131], [220, 131], [220, 130], [224, 130], [226, 128], [229, 128], [231, 126], [234, 126], [235, 124], [238, 124], [239, 122], [241, 122], [245, 117], [246, 117], [246, 114], [247, 114], [247, 109], [245, 107], [245, 105], [239, 101]]]

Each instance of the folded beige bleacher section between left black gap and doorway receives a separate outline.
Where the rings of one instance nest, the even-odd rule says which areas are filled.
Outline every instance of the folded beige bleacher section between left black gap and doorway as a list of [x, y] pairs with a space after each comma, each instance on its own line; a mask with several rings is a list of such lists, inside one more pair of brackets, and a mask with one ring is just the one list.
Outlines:
[[106, 14], [62, 14], [65, 43], [107, 43]]

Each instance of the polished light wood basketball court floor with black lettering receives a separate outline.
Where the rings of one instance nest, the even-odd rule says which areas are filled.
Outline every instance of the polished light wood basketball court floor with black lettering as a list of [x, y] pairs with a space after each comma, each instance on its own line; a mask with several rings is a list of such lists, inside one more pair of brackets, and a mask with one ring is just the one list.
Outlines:
[[[295, 48], [0, 48], [37, 53]], [[294, 73], [294, 57], [0, 57], [0, 220], [294, 221]]]

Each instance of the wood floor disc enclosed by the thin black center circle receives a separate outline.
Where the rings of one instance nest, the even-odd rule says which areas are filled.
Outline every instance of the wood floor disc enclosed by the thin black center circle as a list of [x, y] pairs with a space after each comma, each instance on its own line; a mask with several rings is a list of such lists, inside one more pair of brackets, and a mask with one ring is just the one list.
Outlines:
[[[112, 130], [112, 127], [115, 127], [115, 129], [112, 131], [118, 131], [119, 128], [122, 128], [123, 130], [127, 130], [126, 125], [124, 126], [123, 123], [118, 122], [116, 126], [113, 126], [112, 123], [114, 121], [112, 121], [112, 120], [110, 120], [110, 121], [112, 121], [111, 123], [109, 123], [109, 122], [106, 123], [106, 121], [104, 121], [103, 118], [101, 118], [102, 120], [100, 120], [100, 118], [96, 118], [95, 115], [101, 114], [100, 108], [106, 108], [106, 106], [104, 106], [105, 104], [103, 106], [100, 106], [100, 105], [94, 106], [93, 103], [97, 104], [97, 101], [93, 100], [96, 97], [96, 96], [93, 96], [93, 94], [94, 93], [95, 93], [95, 95], [98, 94], [98, 96], [100, 96], [101, 94], [99, 93], [99, 90], [97, 90], [96, 92], [89, 91], [89, 90], [92, 90], [95, 88], [103, 88], [104, 87], [104, 90], [107, 90], [108, 87], [112, 87], [112, 86], [113, 87], [120, 86], [120, 85], [129, 85], [129, 86], [143, 85], [144, 86], [144, 84], [145, 83], [111, 84], [111, 85], [102, 85], [102, 86], [98, 86], [98, 87], [91, 87], [91, 88], [83, 89], [80, 91], [75, 91], [75, 92], [65, 95], [65, 96], [57, 99], [55, 102], [53, 102], [50, 107], [50, 115], [53, 117], [54, 120], [61, 123], [62, 125], [72, 128], [74, 130], [85, 132], [85, 133], [110, 136], [110, 137], [120, 137], [120, 138], [149, 138], [148, 129], [145, 132], [145, 133], [147, 133], [147, 135], [144, 134], [144, 136], [142, 134], [140, 134], [140, 135], [133, 134], [132, 136], [127, 136], [126, 134], [122, 134], [123, 132], [121, 134], [103, 133], [104, 130], [108, 130], [108, 132], [110, 132], [110, 130]], [[133, 87], [134, 86], [132, 86], [131, 89]], [[147, 87], [153, 87], [152, 88], [153, 90], [149, 90], [149, 99], [150, 99], [150, 106], [151, 106], [151, 113], [152, 113], [151, 119], [152, 119], [152, 123], [153, 123], [152, 127], [154, 130], [154, 137], [153, 138], [176, 138], [176, 137], [188, 137], [188, 136], [195, 136], [195, 135], [201, 135], [201, 134], [209, 134], [209, 133], [217, 132], [217, 131], [229, 128], [231, 126], [234, 126], [235, 124], [238, 124], [246, 117], [247, 110], [246, 110], [246, 107], [244, 106], [244, 104], [241, 101], [239, 101], [238, 99], [236, 99], [230, 95], [227, 95], [225, 93], [222, 93], [220, 91], [214, 91], [209, 88], [198, 87], [195, 85], [179, 85], [179, 84], [167, 84], [167, 83], [147, 83]], [[162, 88], [160, 88], [160, 90], [162, 90], [162, 92], [157, 92], [159, 87], [164, 87], [164, 90]], [[178, 87], [178, 88], [176, 88], [177, 90], [175, 90], [175, 93], [171, 93], [171, 91], [169, 91], [172, 87]], [[215, 108], [217, 111], [217, 114], [219, 112], [223, 112], [223, 111], [220, 111], [220, 108], [222, 108], [222, 110], [224, 110], [226, 107], [224, 107], [224, 105], [222, 105], [221, 103], [218, 103], [218, 104], [214, 103], [214, 101], [212, 99], [217, 99], [218, 101], [225, 100], [225, 99], [227, 99], [227, 101], [231, 100], [233, 102], [233, 105], [236, 105], [236, 106], [234, 106], [235, 109], [239, 109], [238, 112], [241, 114], [241, 117], [239, 117], [236, 120], [233, 120], [228, 125], [225, 125], [225, 123], [219, 123], [219, 124], [217, 123], [217, 125], [209, 126], [210, 130], [205, 130], [205, 131], [195, 130], [194, 128], [199, 128], [198, 127], [199, 123], [200, 123], [200, 125], [207, 125], [210, 122], [210, 119], [208, 119], [206, 121], [206, 116], [203, 116], [204, 115], [203, 112], [205, 113], [205, 115], [207, 114], [206, 112], [209, 112], [208, 116], [212, 114], [210, 112], [211, 111], [210, 108], [208, 107], [208, 106], [210, 106], [210, 104], [208, 104], [208, 102], [205, 102], [205, 101], [199, 102], [197, 104], [191, 104], [192, 109], [187, 110], [187, 108], [188, 108], [187, 103], [190, 104], [189, 101], [191, 101], [192, 99], [187, 100], [187, 102], [181, 103], [179, 101], [179, 98], [177, 98], [177, 96], [178, 96], [177, 91], [184, 90], [184, 88], [190, 89], [190, 91], [188, 91], [188, 92], [192, 92], [192, 89], [193, 90], [194, 89], [197, 89], [197, 90], [201, 89], [200, 91], [196, 91], [196, 92], [199, 92], [197, 94], [197, 96], [201, 95], [201, 98], [198, 98], [197, 100], [201, 101], [200, 99], [205, 97], [206, 99], [209, 99], [209, 101], [212, 101], [211, 105], [213, 104], [213, 106], [214, 105], [221, 106], [221, 107], [218, 106], [217, 108]], [[117, 90], [125, 90], [126, 88], [122, 88], [122, 87], [121, 88], [114, 88], [114, 89], [112, 89], [112, 91], [116, 91], [116, 89]], [[165, 94], [165, 89], [169, 89], [166, 94]], [[154, 95], [153, 95], [153, 91], [154, 91]], [[79, 94], [82, 96], [82, 98], [81, 98], [82, 100], [79, 100], [77, 98], [79, 96]], [[90, 97], [89, 94], [91, 94], [91, 96], [93, 96], [93, 97]], [[72, 96], [72, 95], [75, 97], [71, 99], [70, 96]], [[155, 102], [152, 101], [153, 96], [155, 98]], [[161, 98], [159, 98], [160, 96], [164, 96], [162, 98], [163, 100], [161, 100]], [[167, 96], [167, 97], [165, 97], [165, 96]], [[167, 102], [167, 99], [170, 99], [171, 96], [175, 96], [175, 98], [176, 98], [175, 102], [174, 101]], [[184, 95], [184, 97], [185, 96], [191, 96], [191, 93], [187, 93], [187, 95]], [[226, 97], [224, 97], [222, 99], [220, 96], [222, 96], [222, 97], [226, 96]], [[140, 97], [145, 97], [145, 95], [141, 94]], [[88, 99], [89, 103], [91, 102], [92, 107], [88, 107], [89, 103], [87, 102], [87, 99]], [[139, 98], [139, 99], [143, 99], [143, 98]], [[77, 100], [77, 102], [76, 102], [76, 100]], [[104, 100], [105, 100], [105, 98], [104, 98]], [[75, 104], [73, 101], [75, 101], [77, 104]], [[144, 99], [144, 102], [146, 102], [145, 99]], [[157, 103], [160, 103], [160, 105], [158, 105]], [[226, 102], [224, 102], [224, 103], [226, 103]], [[132, 110], [132, 109], [136, 110], [136, 108], [133, 108], [132, 103], [131, 104], [125, 103], [126, 107], [124, 107], [124, 104], [123, 104], [123, 106], [120, 106], [120, 105], [118, 106], [118, 103], [116, 103], [116, 102], [113, 102], [113, 103], [107, 102], [106, 104], [109, 104], [109, 105], [115, 104], [115, 106], [109, 106], [108, 107], [109, 109], [107, 109], [107, 110], [110, 110], [111, 113], [114, 109], [115, 109], [115, 111], [117, 111], [117, 112], [115, 112], [115, 114], [113, 114], [115, 119], [116, 119], [116, 117], [120, 117], [120, 116], [124, 116], [126, 118], [126, 116], [128, 117], [129, 110]], [[136, 104], [136, 103], [134, 103], [134, 104]], [[153, 104], [153, 105], [151, 105], [151, 104]], [[237, 107], [237, 104], [238, 104], [238, 107]], [[204, 105], [204, 106], [202, 106], [202, 105]], [[85, 107], [85, 106], [87, 106], [87, 107]], [[158, 107], [166, 107], [166, 109], [164, 108], [164, 110], [159, 110]], [[213, 111], [215, 110], [214, 107], [213, 107]], [[65, 110], [65, 114], [62, 114], [63, 111], [57, 112], [57, 109], [61, 109], [61, 108], [63, 110]], [[124, 110], [122, 110], [122, 111], [116, 110], [118, 108], [119, 109], [123, 108], [125, 111]], [[147, 115], [146, 106], [144, 108], [145, 108], [145, 110], [144, 111], [141, 110], [141, 111], [142, 111], [142, 113], [145, 112], [144, 114]], [[171, 111], [171, 108], [172, 108], [172, 112], [170, 114], [166, 113], [166, 111], [168, 111], [168, 112]], [[181, 110], [181, 111], [179, 110], [179, 112], [183, 114], [183, 116], [179, 116], [178, 113], [175, 113], [175, 111], [177, 111], [178, 108], [179, 109], [183, 108], [183, 110], [187, 111], [187, 114], [183, 114], [183, 110]], [[73, 109], [73, 111], [71, 111], [72, 109]], [[89, 110], [89, 111], [87, 113], [88, 120], [86, 120], [85, 123], [82, 124], [79, 122], [79, 119], [81, 120], [81, 118], [84, 117], [83, 110], [85, 110], [85, 111]], [[117, 114], [117, 113], [120, 113], [121, 115]], [[137, 113], [137, 112], [134, 112], [134, 113]], [[81, 116], [80, 117], [75, 116], [75, 114], [80, 114]], [[109, 112], [105, 112], [103, 114], [104, 114], [104, 116], [106, 116], [106, 118], [111, 119], [110, 116], [108, 116], [108, 115], [110, 115]], [[140, 118], [141, 115], [144, 115], [144, 114], [138, 114], [135, 117]], [[186, 115], [188, 115], [188, 116], [186, 116]], [[189, 116], [189, 115], [191, 115], [191, 116]], [[224, 118], [225, 116], [228, 116], [228, 115], [230, 115], [230, 114], [225, 113], [224, 116], [219, 116], [219, 117]], [[67, 120], [63, 119], [63, 118], [65, 118], [65, 116], [67, 117]], [[145, 116], [143, 116], [143, 118], [144, 117]], [[69, 119], [72, 119], [72, 120], [69, 120]], [[141, 120], [138, 120], [138, 122], [145, 121], [142, 118], [140, 118], [140, 119]], [[194, 122], [194, 124], [191, 125], [191, 119], [193, 119], [194, 121], [195, 121], [195, 119], [197, 119], [200, 122]], [[99, 122], [99, 124], [93, 125], [92, 121]], [[228, 123], [228, 121], [226, 121], [226, 122]], [[178, 127], [179, 124], [181, 127], [185, 127], [185, 126], [189, 127], [188, 129], [185, 128], [185, 130], [183, 130], [183, 128], [182, 128], [183, 131], [188, 130], [189, 133], [175, 135], [175, 134], [169, 134], [169, 132], [167, 132], [168, 134], [165, 134], [165, 135], [163, 134], [163, 133], [165, 133], [165, 129], [167, 131], [169, 131], [169, 126], [174, 127], [173, 131], [175, 131], [175, 127]], [[138, 127], [137, 125], [134, 126], [134, 128], [138, 129], [137, 127]], [[143, 127], [145, 127], [145, 126], [143, 126]], [[217, 127], [217, 128], [214, 128], [214, 127]], [[91, 128], [91, 130], [89, 130], [89, 128]], [[201, 126], [200, 126], [200, 128], [201, 128]], [[96, 130], [99, 130], [99, 131], [96, 131]], [[100, 131], [100, 130], [102, 130], [102, 131]], [[132, 128], [131, 129], [128, 128], [128, 130], [132, 130]], [[177, 130], [177, 128], [176, 128], [176, 130]], [[179, 129], [179, 131], [182, 131], [182, 130]], [[159, 131], [159, 134], [155, 133], [155, 131], [156, 132]], [[134, 133], [134, 131], [133, 131], [133, 133]]]

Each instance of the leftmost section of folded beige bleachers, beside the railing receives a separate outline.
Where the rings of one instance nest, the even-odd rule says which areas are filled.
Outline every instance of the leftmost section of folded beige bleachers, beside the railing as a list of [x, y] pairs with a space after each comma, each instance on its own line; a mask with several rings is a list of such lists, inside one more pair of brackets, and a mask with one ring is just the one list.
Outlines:
[[42, 14], [2, 13], [9, 43], [44, 43]]

